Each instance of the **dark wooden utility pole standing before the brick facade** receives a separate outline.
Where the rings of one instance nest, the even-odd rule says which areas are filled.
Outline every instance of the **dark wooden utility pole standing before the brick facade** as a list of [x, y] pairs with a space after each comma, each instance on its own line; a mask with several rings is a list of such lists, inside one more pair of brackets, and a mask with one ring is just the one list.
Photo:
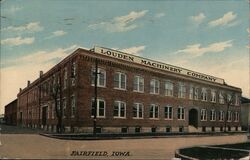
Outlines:
[[97, 58], [95, 59], [95, 86], [94, 86], [94, 94], [95, 94], [95, 98], [94, 98], [94, 125], [93, 125], [93, 135], [96, 136], [96, 114], [97, 114], [97, 76], [98, 74], [98, 60]]

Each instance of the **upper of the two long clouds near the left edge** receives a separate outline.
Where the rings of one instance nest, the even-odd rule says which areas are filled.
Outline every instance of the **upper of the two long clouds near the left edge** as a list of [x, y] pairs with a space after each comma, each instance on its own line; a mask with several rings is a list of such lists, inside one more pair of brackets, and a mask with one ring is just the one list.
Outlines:
[[23, 26], [9, 26], [7, 28], [3, 28], [2, 31], [10, 31], [10, 32], [39, 32], [42, 31], [43, 27], [40, 26], [40, 22], [30, 22]]

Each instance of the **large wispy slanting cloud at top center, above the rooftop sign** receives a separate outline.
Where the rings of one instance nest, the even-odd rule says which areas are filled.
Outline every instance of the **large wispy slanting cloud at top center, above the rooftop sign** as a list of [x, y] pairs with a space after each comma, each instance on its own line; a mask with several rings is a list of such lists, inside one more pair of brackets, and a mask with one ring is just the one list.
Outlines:
[[108, 32], [126, 32], [138, 27], [133, 23], [135, 20], [142, 18], [147, 13], [147, 10], [140, 12], [132, 11], [128, 15], [114, 17], [110, 21], [104, 21], [96, 24], [91, 24], [88, 27], [91, 29], [104, 29]]

